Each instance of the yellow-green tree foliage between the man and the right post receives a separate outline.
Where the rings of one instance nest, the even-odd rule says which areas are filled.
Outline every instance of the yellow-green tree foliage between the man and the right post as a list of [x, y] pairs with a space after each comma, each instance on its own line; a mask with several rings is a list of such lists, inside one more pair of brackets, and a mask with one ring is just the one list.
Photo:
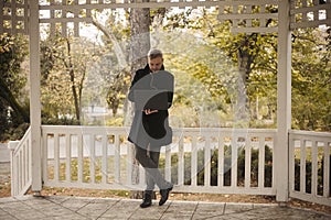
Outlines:
[[[217, 109], [227, 114], [226, 120], [236, 123], [236, 107], [241, 103], [241, 97], [247, 96], [244, 100], [247, 100], [246, 105], [249, 107], [246, 112], [250, 114], [249, 127], [259, 124], [261, 128], [265, 124], [259, 121], [269, 120], [273, 122], [271, 128], [275, 128], [275, 34], [232, 34], [229, 22], [220, 23], [217, 20], [217, 10], [183, 10], [181, 13], [169, 13], [164, 29], [171, 30], [174, 35], [179, 34], [173, 31], [191, 34], [192, 38], [185, 36], [183, 42], [177, 43], [180, 45], [178, 51], [185, 53], [179, 53], [180, 56], [175, 55], [169, 63], [175, 70], [180, 69], [180, 74], [186, 73], [201, 84], [199, 91], [206, 90], [209, 95], [209, 98], [202, 98], [206, 106], [217, 105]], [[192, 50], [185, 48], [188, 43]], [[244, 88], [239, 86], [241, 80]], [[179, 87], [181, 85], [180, 82]], [[194, 94], [195, 99], [200, 99], [199, 96]]]

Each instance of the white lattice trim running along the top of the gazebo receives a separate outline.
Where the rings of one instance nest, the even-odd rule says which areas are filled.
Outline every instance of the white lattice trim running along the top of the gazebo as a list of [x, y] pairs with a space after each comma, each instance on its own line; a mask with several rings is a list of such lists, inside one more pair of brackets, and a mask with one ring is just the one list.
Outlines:
[[[0, 34], [29, 34], [29, 0], [1, 0]], [[278, 4], [281, 0], [40, 0], [40, 23], [50, 24], [51, 32], [61, 25], [62, 34], [79, 35], [79, 23], [90, 23], [92, 12], [120, 8], [199, 8], [218, 9], [220, 21], [231, 20], [232, 31], [270, 33], [278, 31]], [[331, 0], [291, 0], [289, 29], [331, 25]], [[270, 22], [271, 21], [271, 22]]]

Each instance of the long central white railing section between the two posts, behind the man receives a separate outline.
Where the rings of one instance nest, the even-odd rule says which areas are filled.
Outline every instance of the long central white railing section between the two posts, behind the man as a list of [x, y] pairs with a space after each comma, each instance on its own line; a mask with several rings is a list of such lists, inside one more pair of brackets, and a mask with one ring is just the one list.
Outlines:
[[[43, 125], [44, 186], [143, 189], [142, 168], [138, 183], [132, 176], [127, 133], [127, 128]], [[175, 184], [174, 191], [275, 195], [274, 156], [265, 156], [266, 146], [275, 147], [275, 135], [276, 130], [174, 129], [173, 143], [161, 151], [164, 176]]]

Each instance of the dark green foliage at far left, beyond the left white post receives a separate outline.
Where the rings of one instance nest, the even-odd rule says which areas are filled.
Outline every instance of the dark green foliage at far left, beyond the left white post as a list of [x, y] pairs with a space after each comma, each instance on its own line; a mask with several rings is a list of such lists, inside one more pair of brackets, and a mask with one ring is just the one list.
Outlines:
[[[0, 35], [0, 141], [21, 138], [21, 124], [29, 123], [26, 69], [26, 37]], [[14, 135], [17, 131], [18, 135]], [[24, 133], [24, 132], [23, 132]]]

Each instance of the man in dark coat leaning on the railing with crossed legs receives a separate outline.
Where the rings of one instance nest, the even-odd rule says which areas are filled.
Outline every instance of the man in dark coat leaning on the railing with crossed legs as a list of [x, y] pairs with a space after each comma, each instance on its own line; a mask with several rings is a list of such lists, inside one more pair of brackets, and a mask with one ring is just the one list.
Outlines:
[[[142, 101], [139, 91], [156, 95]], [[164, 70], [161, 51], [151, 50], [148, 53], [148, 64], [143, 69], [136, 72], [128, 98], [135, 102], [135, 116], [128, 140], [135, 144], [136, 158], [146, 172], [147, 186], [140, 207], [147, 208], [152, 205], [154, 185], [160, 188], [159, 206], [162, 206], [173, 187], [159, 170], [161, 146], [172, 142], [168, 108], [171, 107], [173, 99], [173, 75]], [[166, 107], [161, 107], [162, 102]]]

